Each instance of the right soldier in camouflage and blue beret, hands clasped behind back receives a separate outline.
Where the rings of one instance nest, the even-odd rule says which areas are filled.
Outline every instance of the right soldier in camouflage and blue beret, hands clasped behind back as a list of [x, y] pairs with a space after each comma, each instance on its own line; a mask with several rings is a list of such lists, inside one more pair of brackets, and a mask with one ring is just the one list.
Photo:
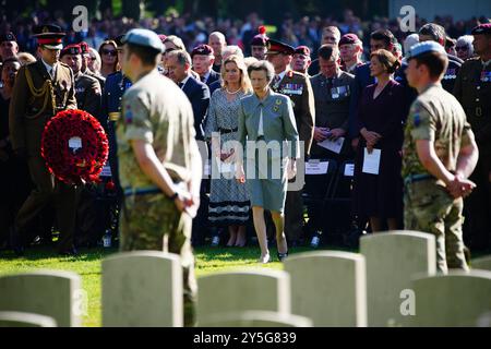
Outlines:
[[478, 151], [457, 99], [441, 85], [448, 59], [443, 46], [421, 43], [409, 51], [408, 83], [418, 89], [405, 130], [405, 228], [433, 233], [438, 269], [468, 269], [462, 234], [463, 196]]

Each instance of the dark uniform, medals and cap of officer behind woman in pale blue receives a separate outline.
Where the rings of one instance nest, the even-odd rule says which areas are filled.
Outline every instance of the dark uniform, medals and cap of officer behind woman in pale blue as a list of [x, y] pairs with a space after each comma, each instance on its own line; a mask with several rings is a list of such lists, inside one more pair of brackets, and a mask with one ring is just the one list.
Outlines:
[[[268, 40], [266, 55], [285, 52], [292, 55], [295, 49], [288, 45]], [[275, 81], [276, 80], [276, 81]], [[304, 156], [309, 157], [313, 140], [315, 105], [310, 80], [302, 73], [287, 69], [283, 79], [274, 79], [271, 87], [274, 92], [290, 97], [300, 141], [303, 142]], [[290, 242], [297, 242], [302, 236], [303, 200], [302, 191], [288, 191], [285, 203], [285, 234]]]

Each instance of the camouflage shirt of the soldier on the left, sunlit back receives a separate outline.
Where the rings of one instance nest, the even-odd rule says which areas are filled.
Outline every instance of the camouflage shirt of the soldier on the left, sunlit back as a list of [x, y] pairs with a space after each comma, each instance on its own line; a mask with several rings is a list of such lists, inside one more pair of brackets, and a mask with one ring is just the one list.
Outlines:
[[134, 140], [152, 144], [176, 182], [188, 182], [193, 170], [201, 171], [191, 104], [175, 83], [153, 70], [124, 93], [122, 108], [123, 118], [118, 122], [122, 188], [154, 185], [140, 169], [131, 147]]

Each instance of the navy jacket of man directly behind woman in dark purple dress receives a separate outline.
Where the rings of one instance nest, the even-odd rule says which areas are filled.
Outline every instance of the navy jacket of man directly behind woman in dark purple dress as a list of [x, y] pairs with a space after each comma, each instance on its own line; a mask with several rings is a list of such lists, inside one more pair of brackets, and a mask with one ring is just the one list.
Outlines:
[[358, 122], [358, 105], [364, 87], [375, 83], [375, 79], [370, 75], [370, 63], [364, 63], [355, 70], [355, 80], [351, 84], [351, 100], [349, 101], [349, 137], [356, 139], [360, 133], [361, 125]]

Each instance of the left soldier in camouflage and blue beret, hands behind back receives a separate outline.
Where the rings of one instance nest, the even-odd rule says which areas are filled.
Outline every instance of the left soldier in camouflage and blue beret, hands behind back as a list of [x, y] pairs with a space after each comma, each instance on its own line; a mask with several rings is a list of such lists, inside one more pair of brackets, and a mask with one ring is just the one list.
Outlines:
[[184, 277], [184, 325], [195, 322], [196, 282], [191, 249], [192, 217], [201, 184], [201, 156], [191, 105], [157, 69], [163, 45], [147, 29], [123, 38], [123, 73], [134, 83], [123, 96], [118, 156], [124, 205], [121, 251], [180, 254]]

